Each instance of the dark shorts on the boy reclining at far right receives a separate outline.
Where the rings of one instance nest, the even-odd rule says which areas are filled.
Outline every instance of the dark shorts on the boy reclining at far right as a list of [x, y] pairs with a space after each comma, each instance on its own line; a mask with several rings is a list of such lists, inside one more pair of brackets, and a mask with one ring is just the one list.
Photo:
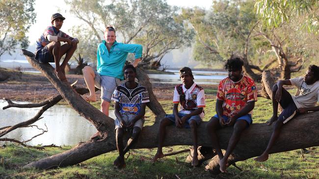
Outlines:
[[297, 107], [292, 99], [292, 95], [284, 88], [282, 98], [281, 101], [279, 101], [279, 104], [284, 110], [278, 116], [278, 120], [283, 122], [284, 124], [298, 114]]

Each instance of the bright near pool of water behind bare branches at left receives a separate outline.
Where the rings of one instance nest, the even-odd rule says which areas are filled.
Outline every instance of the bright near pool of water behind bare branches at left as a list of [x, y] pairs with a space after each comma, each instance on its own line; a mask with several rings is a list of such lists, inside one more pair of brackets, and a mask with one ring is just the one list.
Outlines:
[[[9, 108], [2, 110], [7, 103], [0, 100], [0, 127], [15, 125], [19, 122], [32, 118], [40, 108], [20, 109]], [[111, 118], [115, 118], [114, 111], [109, 112]], [[81, 141], [86, 141], [96, 132], [95, 127], [77, 112], [65, 105], [54, 105], [42, 114], [43, 119], [35, 122], [39, 128], [46, 129], [48, 132], [32, 139], [29, 145], [75, 145]], [[1, 138], [15, 138], [20, 141], [28, 140], [32, 136], [42, 131], [34, 128], [20, 128]]]

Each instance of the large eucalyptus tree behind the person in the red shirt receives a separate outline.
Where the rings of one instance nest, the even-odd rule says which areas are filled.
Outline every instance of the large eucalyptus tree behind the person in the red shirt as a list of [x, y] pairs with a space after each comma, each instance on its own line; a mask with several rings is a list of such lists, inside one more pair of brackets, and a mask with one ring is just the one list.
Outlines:
[[253, 55], [257, 48], [249, 45], [252, 31], [258, 23], [253, 6], [252, 0], [215, 0], [210, 10], [183, 9], [180, 18], [190, 23], [196, 33], [194, 59], [210, 64], [237, 54], [244, 61], [245, 73], [260, 80], [260, 75], [251, 68], [260, 69], [251, 65], [248, 56]]

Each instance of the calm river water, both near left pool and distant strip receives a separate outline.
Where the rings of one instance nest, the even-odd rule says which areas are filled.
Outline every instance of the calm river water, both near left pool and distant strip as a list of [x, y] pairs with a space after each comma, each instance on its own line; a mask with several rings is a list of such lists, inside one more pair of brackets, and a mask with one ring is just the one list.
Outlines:
[[[181, 83], [178, 70], [170, 71], [174, 74], [148, 74], [148, 76], [152, 83]], [[218, 84], [221, 79], [227, 76], [227, 72], [193, 70], [193, 75], [197, 84]], [[6, 101], [0, 100], [0, 128], [26, 121], [40, 110], [40, 108], [2, 110], [2, 107], [6, 105]], [[114, 111], [110, 111], [109, 114], [111, 118], [115, 118]], [[35, 122], [34, 125], [42, 129], [46, 129], [46, 125], [48, 132], [32, 139], [27, 143], [29, 145], [76, 145], [81, 141], [88, 140], [96, 132], [91, 123], [65, 105], [54, 105], [42, 116], [44, 118]], [[39, 133], [41, 131], [36, 128], [20, 128], [3, 137], [25, 141]]]

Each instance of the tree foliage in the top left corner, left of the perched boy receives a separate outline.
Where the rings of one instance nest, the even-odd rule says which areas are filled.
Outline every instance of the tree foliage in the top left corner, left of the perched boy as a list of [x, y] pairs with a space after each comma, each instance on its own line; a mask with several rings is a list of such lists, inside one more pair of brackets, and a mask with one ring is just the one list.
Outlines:
[[0, 0], [0, 57], [29, 44], [26, 33], [35, 22], [34, 0]]

